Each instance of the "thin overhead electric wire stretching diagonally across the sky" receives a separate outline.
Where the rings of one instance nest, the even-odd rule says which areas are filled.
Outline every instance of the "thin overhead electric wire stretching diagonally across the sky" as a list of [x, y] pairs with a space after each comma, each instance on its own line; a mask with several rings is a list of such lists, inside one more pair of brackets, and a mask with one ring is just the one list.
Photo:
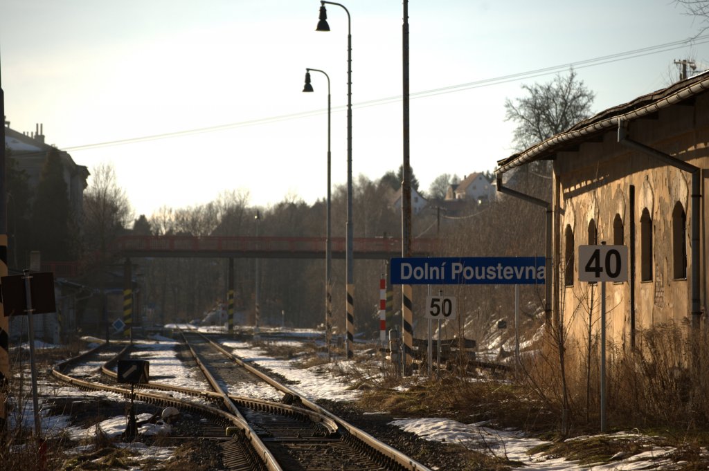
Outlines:
[[[586, 67], [594, 67], [597, 65], [609, 64], [611, 62], [618, 62], [618, 61], [627, 60], [627, 59], [635, 59], [636, 57], [644, 57], [647, 55], [657, 54], [659, 52], [667, 52], [670, 50], [676, 50], [676, 49], [680, 49], [681, 47], [686, 47], [687, 45], [705, 44], [707, 42], [709, 42], [709, 35], [701, 35], [696, 38], [691, 38], [691, 39], [686, 39], [686, 40], [677, 40], [677, 41], [673, 41], [673, 42], [666, 42], [661, 45], [641, 47], [640, 49], [630, 50], [630, 51], [626, 51], [626, 52], [617, 52], [615, 54], [605, 55], [605, 56], [601, 56], [601, 57], [594, 57], [592, 59], [585, 59], [585, 60], [581, 60], [578, 62], [569, 62], [566, 64], [559, 64], [559, 65], [554, 65], [551, 67], [543, 67], [541, 69], [530, 70], [527, 72], [518, 72], [515, 74], [508, 74], [508, 75], [493, 77], [490, 79], [481, 79], [478, 81], [471, 81], [471, 82], [467, 82], [464, 84], [443, 86], [443, 87], [440, 87], [437, 89], [417, 91], [417, 92], [411, 93], [410, 98], [426, 98], [429, 96], [436, 96], [436, 95], [441, 95], [444, 93], [454, 93], [457, 91], [477, 89], [477, 88], [481, 88], [484, 86], [493, 86], [493, 85], [498, 85], [498, 84], [504, 84], [504, 83], [508, 83], [510, 81], [531, 79], [531, 78], [535, 78], [537, 76], [553, 74], [554, 72], [562, 72], [563, 70], [566, 70], [569, 68], [584, 69]], [[401, 95], [389, 96], [386, 98], [376, 98], [374, 100], [354, 103], [353, 108], [367, 108], [369, 106], [379, 106], [379, 105], [384, 105], [384, 104], [389, 104], [389, 103], [395, 103], [395, 102], [401, 101], [401, 99], [402, 99]], [[342, 111], [342, 110], [345, 110], [345, 106], [331, 107], [330, 110], [334, 111], [334, 112]], [[62, 150], [64, 150], [65, 152], [69, 152], [69, 151], [76, 152], [76, 151], [82, 151], [82, 150], [87, 150], [87, 149], [95, 149], [96, 147], [111, 147], [111, 146], [123, 145], [123, 144], [133, 144], [136, 142], [145, 142], [145, 141], [151, 141], [151, 140], [167, 139], [170, 137], [182, 137], [182, 136], [187, 136], [187, 135], [201, 134], [204, 132], [217, 132], [217, 131], [222, 131], [222, 130], [233, 129], [235, 127], [245, 127], [245, 126], [260, 125], [260, 124], [267, 124], [267, 123], [276, 123], [276, 122], [284, 121], [284, 120], [308, 118], [310, 116], [321, 115], [323, 113], [327, 113], [327, 111], [328, 110], [326, 108], [319, 109], [319, 110], [309, 110], [309, 111], [303, 111], [303, 112], [299, 112], [299, 113], [291, 113], [291, 114], [286, 114], [286, 115], [271, 116], [271, 117], [267, 117], [267, 118], [257, 118], [257, 119], [253, 119], [253, 120], [240, 121], [238, 123], [230, 123], [230, 124], [225, 124], [225, 125], [216, 125], [216, 126], [208, 126], [208, 127], [199, 127], [199, 128], [192, 129], [192, 130], [164, 132], [162, 134], [156, 134], [156, 135], [148, 135], [148, 136], [141, 136], [141, 137], [129, 137], [127, 139], [121, 139], [121, 140], [96, 142], [94, 144], [70, 146], [70, 147], [65, 147]]]

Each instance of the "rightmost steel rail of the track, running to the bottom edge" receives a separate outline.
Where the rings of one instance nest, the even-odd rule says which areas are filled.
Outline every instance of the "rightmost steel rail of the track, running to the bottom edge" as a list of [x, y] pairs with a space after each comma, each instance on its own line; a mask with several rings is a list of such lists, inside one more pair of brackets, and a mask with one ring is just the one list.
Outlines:
[[312, 409], [315, 412], [323, 414], [324, 416], [330, 417], [330, 419], [333, 419], [333, 421], [335, 421], [335, 423], [342, 426], [342, 428], [345, 429], [348, 433], [350, 433], [350, 435], [352, 435], [354, 438], [358, 438], [360, 441], [367, 443], [368, 446], [374, 448], [374, 450], [379, 451], [379, 453], [386, 456], [386, 458], [393, 460], [398, 465], [406, 467], [406, 469], [411, 470], [411, 471], [431, 471], [430, 468], [409, 458], [407, 455], [404, 455], [403, 453], [401, 453], [401, 451], [396, 450], [396, 448], [392, 448], [391, 446], [387, 445], [386, 443], [377, 440], [373, 436], [369, 435], [369, 433], [362, 431], [361, 429], [358, 429], [357, 427], [348, 423], [344, 419], [341, 419], [340, 417], [336, 416], [335, 414], [332, 414], [327, 409], [323, 409], [323, 407], [320, 407], [318, 404], [316, 404], [315, 402], [312, 402], [310, 399], [303, 397], [300, 393], [298, 393], [294, 390], [291, 390], [290, 387], [287, 387], [286, 385], [282, 385], [280, 382], [274, 380], [273, 378], [270, 378], [268, 375], [266, 375], [265, 373], [262, 373], [261, 371], [257, 370], [253, 366], [247, 364], [245, 361], [243, 361], [238, 356], [235, 356], [230, 351], [225, 350], [225, 348], [223, 348], [223, 346], [218, 344], [218, 342], [215, 342], [212, 339], [209, 339], [204, 334], [201, 334], [201, 332], [191, 331], [191, 334], [196, 334], [196, 335], [202, 336], [203, 339], [205, 339], [210, 344], [212, 344], [214, 346], [214, 348], [216, 348], [218, 351], [220, 351], [225, 356], [227, 356], [228, 358], [233, 360], [235, 363], [238, 363], [238, 365], [242, 366], [246, 370], [249, 370], [251, 373], [257, 375], [259, 378], [261, 378], [262, 380], [267, 382], [269, 385], [272, 385], [277, 390], [284, 392], [284, 394], [289, 394], [289, 395], [293, 395], [294, 397], [297, 397], [298, 399], [300, 399], [301, 403], [303, 405], [305, 405], [306, 407]]

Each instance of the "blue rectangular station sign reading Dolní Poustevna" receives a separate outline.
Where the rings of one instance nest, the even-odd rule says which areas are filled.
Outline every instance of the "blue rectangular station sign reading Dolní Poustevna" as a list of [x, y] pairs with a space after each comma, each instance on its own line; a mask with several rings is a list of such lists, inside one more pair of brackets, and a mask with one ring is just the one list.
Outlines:
[[425, 257], [391, 259], [393, 285], [537, 285], [544, 257]]

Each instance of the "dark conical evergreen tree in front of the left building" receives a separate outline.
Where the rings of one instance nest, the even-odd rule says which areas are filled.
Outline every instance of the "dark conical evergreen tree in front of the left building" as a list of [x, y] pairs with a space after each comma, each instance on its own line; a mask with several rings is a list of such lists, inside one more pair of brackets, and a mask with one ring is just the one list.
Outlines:
[[72, 233], [74, 216], [69, 207], [69, 192], [59, 153], [47, 155], [37, 185], [32, 211], [31, 249], [39, 250], [43, 260], [70, 261], [77, 254], [77, 234]]

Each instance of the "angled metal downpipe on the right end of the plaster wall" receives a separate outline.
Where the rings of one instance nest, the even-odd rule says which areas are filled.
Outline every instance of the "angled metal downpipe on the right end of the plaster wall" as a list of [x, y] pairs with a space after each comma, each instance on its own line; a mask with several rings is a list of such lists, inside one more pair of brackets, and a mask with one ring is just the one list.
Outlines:
[[627, 123], [618, 119], [618, 143], [637, 150], [643, 154], [649, 155], [653, 159], [659, 160], [662, 163], [674, 166], [676, 169], [686, 171], [692, 175], [692, 221], [691, 221], [691, 261], [692, 261], [692, 327], [698, 329], [701, 319], [700, 297], [699, 297], [699, 218], [701, 205], [701, 169], [697, 166], [688, 164], [686, 161], [672, 157], [669, 154], [653, 149], [642, 142], [637, 142], [630, 137], [627, 137]]

